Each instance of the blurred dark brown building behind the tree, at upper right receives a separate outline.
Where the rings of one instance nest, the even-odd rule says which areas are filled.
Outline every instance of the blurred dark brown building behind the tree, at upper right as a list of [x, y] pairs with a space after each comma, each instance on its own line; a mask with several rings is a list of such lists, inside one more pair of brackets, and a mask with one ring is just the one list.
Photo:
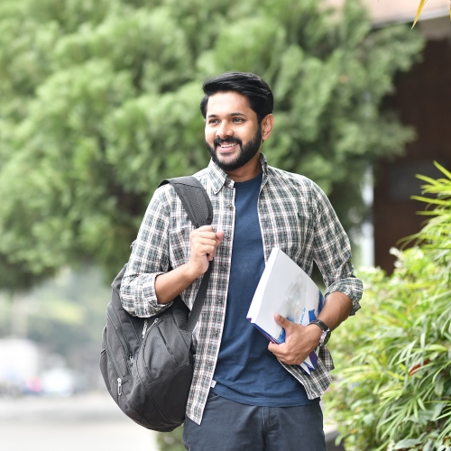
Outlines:
[[[375, 27], [412, 23], [417, 3], [367, 0]], [[397, 76], [395, 90], [385, 100], [387, 106], [398, 112], [401, 122], [413, 126], [417, 133], [402, 155], [382, 159], [374, 167], [374, 264], [388, 273], [393, 271], [395, 261], [391, 247], [400, 247], [402, 238], [418, 233], [425, 220], [425, 216], [417, 214], [423, 205], [410, 199], [421, 194], [423, 182], [416, 174], [439, 178], [441, 172], [434, 161], [448, 170], [451, 167], [449, 9], [447, 0], [428, 0], [416, 25], [426, 38], [422, 60], [407, 73]]]

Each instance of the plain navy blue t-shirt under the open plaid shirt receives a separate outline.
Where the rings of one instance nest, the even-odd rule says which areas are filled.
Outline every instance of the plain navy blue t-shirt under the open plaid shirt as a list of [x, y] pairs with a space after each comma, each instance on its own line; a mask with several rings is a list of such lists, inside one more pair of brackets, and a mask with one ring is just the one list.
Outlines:
[[228, 400], [254, 406], [288, 407], [318, 402], [276, 357], [268, 339], [246, 318], [264, 270], [258, 198], [262, 173], [235, 182], [235, 232], [227, 293], [226, 319], [212, 391]]

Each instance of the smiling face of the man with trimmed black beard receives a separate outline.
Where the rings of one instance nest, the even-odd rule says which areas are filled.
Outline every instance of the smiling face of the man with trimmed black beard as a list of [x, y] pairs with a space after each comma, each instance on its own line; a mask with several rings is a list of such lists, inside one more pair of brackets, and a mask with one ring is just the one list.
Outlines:
[[208, 98], [205, 144], [223, 170], [236, 170], [251, 161], [262, 147], [262, 127], [247, 97], [219, 92]]

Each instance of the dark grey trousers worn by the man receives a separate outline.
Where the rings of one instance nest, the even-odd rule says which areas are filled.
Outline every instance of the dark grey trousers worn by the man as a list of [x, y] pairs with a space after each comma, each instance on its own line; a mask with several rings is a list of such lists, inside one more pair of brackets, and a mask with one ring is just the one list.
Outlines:
[[185, 420], [189, 451], [326, 451], [318, 404], [297, 407], [248, 406], [209, 392], [200, 425]]

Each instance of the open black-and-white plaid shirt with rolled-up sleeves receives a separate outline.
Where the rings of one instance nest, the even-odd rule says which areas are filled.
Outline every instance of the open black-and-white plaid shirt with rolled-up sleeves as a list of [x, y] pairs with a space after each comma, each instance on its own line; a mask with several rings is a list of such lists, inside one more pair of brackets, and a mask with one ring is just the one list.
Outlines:
[[[258, 215], [262, 229], [265, 261], [273, 247], [279, 247], [308, 274], [317, 262], [327, 286], [325, 296], [341, 291], [353, 301], [351, 315], [360, 308], [362, 281], [356, 279], [349, 240], [324, 192], [310, 179], [268, 166], [262, 162], [262, 187]], [[197, 349], [187, 416], [200, 424], [207, 393], [215, 372], [221, 343], [232, 259], [235, 224], [234, 180], [213, 161], [195, 177], [200, 180], [213, 205], [213, 228], [224, 230], [217, 248], [204, 307], [194, 331]], [[161, 312], [155, 295], [155, 277], [189, 261], [189, 221], [175, 190], [170, 185], [157, 189], [143, 218], [136, 244], [121, 287], [124, 308], [139, 317]], [[180, 293], [192, 307], [202, 278]], [[307, 375], [295, 365], [282, 364], [302, 385], [308, 398], [326, 391], [334, 369], [327, 346], [320, 348], [317, 369]], [[263, 376], [263, 375], [262, 375]]]

